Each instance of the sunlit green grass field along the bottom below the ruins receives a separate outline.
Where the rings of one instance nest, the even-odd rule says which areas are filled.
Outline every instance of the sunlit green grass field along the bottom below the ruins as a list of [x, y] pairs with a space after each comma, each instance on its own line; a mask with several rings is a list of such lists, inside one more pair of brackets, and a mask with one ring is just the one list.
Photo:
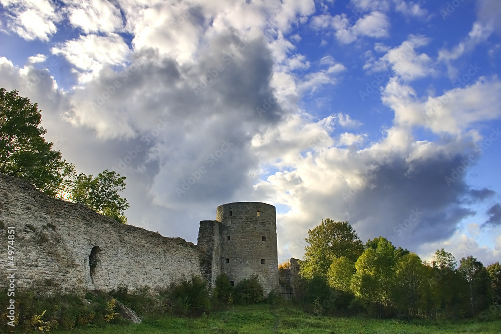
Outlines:
[[235, 306], [199, 318], [164, 317], [141, 324], [58, 333], [500, 333], [501, 320], [404, 321], [314, 316], [288, 306]]

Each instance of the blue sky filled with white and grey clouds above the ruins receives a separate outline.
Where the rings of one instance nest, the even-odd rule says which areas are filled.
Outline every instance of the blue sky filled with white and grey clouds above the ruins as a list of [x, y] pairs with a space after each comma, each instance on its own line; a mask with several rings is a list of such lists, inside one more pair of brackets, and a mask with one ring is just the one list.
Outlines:
[[128, 224], [196, 243], [277, 208], [279, 261], [348, 221], [429, 260], [501, 259], [498, 0], [0, 0], [0, 87], [126, 176]]

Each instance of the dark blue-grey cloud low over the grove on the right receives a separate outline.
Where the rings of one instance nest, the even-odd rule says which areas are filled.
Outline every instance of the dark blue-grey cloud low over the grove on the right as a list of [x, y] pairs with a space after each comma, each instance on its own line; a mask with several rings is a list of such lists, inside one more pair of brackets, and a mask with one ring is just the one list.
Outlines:
[[366, 239], [382, 235], [412, 250], [450, 237], [458, 222], [475, 214], [465, 206], [468, 200], [490, 195], [470, 189], [465, 174], [449, 185], [445, 181], [467, 156], [436, 154], [409, 163], [396, 155], [348, 201], [349, 220]]

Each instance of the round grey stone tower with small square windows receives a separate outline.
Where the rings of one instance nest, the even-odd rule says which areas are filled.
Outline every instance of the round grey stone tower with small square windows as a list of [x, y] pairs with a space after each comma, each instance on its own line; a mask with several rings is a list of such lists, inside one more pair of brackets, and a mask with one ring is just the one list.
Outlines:
[[259, 276], [265, 295], [279, 286], [277, 218], [275, 206], [258, 202], [219, 205], [222, 223], [221, 271], [234, 285], [253, 274]]

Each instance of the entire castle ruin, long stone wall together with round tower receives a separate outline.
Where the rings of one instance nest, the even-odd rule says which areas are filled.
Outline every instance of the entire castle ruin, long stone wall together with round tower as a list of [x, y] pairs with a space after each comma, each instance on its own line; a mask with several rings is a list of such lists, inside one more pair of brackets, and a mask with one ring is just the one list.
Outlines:
[[[233, 284], [257, 274], [265, 294], [279, 287], [275, 207], [240, 202], [217, 207], [200, 222], [197, 245], [124, 225], [84, 205], [44, 195], [0, 175], [0, 239], [15, 230], [17, 287], [41, 293], [136, 289], [204, 277], [212, 288], [226, 273]], [[8, 267], [7, 256], [0, 267]], [[0, 280], [6, 282], [6, 272]]]

